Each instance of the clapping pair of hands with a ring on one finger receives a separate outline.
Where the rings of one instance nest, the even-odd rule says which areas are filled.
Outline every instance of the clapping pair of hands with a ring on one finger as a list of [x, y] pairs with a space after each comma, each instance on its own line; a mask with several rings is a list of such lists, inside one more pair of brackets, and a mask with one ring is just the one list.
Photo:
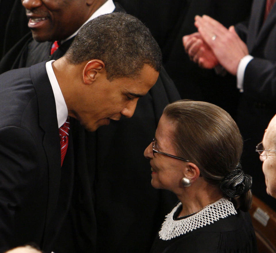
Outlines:
[[183, 37], [183, 45], [191, 60], [208, 69], [221, 64], [236, 75], [239, 61], [248, 55], [248, 48], [234, 26], [227, 29], [207, 15], [196, 16], [195, 26], [197, 33]]

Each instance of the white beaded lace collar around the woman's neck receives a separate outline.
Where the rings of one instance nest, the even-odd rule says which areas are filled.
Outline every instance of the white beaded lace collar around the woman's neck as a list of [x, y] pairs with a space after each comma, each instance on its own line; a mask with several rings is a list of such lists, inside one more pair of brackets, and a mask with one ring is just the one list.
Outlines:
[[180, 202], [168, 215], [166, 215], [159, 231], [160, 239], [165, 241], [170, 240], [194, 229], [214, 223], [214, 221], [218, 221], [229, 215], [237, 214], [233, 203], [225, 198], [221, 198], [194, 215], [181, 220], [174, 220], [173, 215], [181, 205]]

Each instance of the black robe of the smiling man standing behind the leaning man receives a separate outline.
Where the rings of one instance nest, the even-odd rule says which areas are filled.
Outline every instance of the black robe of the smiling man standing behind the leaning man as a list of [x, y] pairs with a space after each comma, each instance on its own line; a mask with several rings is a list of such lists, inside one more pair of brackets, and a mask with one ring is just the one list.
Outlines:
[[[123, 10], [116, 4], [115, 11]], [[72, 42], [65, 42], [49, 57], [51, 42], [38, 43], [28, 36], [22, 39], [25, 46], [19, 42], [14, 47], [21, 52], [12, 64], [8, 55], [2, 59], [1, 71], [58, 59]], [[15, 51], [9, 54], [14, 56]], [[150, 164], [143, 151], [155, 135], [166, 104], [179, 99], [173, 81], [162, 68], [154, 87], [138, 100], [132, 118], [122, 117], [95, 133], [88, 133], [77, 121], [72, 123], [74, 192], [69, 215], [53, 247], [55, 253], [149, 252], [176, 197], [151, 186]]]

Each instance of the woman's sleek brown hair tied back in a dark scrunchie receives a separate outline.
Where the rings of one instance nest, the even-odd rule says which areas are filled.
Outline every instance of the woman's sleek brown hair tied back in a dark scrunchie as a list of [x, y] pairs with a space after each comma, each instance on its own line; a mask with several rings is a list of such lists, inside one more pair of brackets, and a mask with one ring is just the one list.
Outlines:
[[239, 164], [243, 140], [237, 124], [222, 108], [201, 101], [169, 104], [164, 115], [175, 125], [177, 156], [196, 164], [206, 182], [217, 185], [235, 208], [250, 208], [252, 178]]

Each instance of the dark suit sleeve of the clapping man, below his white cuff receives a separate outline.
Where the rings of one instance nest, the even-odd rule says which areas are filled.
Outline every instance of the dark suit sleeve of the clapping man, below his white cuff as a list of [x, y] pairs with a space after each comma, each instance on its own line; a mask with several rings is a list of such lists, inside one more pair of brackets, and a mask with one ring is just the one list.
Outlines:
[[276, 104], [276, 62], [252, 59], [244, 73], [244, 93], [258, 101]]

